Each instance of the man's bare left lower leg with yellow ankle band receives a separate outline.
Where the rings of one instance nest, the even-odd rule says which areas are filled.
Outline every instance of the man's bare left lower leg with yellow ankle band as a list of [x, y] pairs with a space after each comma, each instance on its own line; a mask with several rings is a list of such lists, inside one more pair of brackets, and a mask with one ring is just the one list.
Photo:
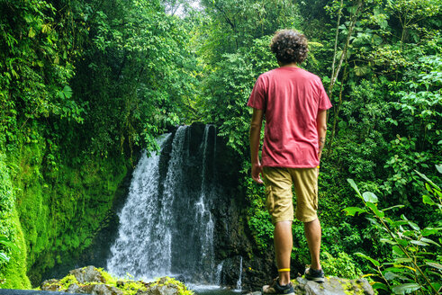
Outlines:
[[[292, 221], [276, 222], [274, 241], [278, 269], [290, 269], [290, 256], [293, 248]], [[284, 286], [289, 282], [290, 272], [280, 272], [279, 283]]]

